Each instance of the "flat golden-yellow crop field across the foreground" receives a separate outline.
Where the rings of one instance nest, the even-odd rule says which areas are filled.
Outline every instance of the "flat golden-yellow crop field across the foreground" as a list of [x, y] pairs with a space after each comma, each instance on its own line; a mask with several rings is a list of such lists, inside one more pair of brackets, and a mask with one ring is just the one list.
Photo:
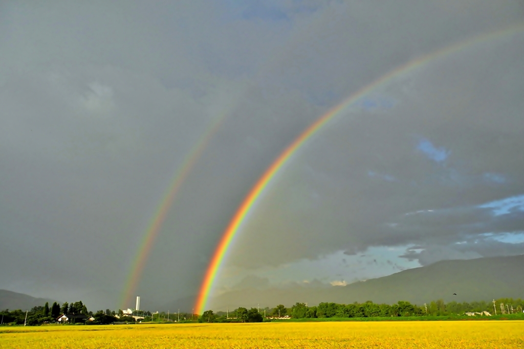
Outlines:
[[524, 348], [524, 321], [3, 327], [0, 348]]

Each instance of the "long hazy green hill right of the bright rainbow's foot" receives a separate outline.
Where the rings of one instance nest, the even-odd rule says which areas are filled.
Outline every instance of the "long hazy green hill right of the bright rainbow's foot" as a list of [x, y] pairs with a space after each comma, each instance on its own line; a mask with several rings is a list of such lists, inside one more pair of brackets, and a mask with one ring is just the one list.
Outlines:
[[437, 299], [463, 302], [503, 297], [524, 298], [524, 255], [441, 261], [346, 286], [235, 290], [210, 304], [213, 310], [223, 310], [296, 302], [317, 305], [372, 300], [391, 304], [407, 300], [421, 305]]

